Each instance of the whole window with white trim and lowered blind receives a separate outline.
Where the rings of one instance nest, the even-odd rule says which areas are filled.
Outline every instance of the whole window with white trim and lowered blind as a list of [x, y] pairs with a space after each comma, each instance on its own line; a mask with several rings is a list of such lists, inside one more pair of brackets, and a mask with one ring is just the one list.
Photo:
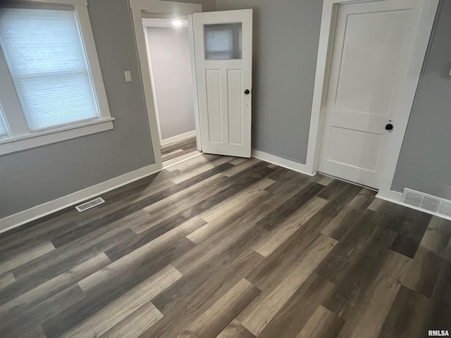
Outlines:
[[[51, 1], [0, 11], [3, 61], [12, 80], [10, 90], [20, 103], [19, 112], [4, 104], [0, 154], [113, 127], [86, 3], [66, 0], [73, 6], [49, 5]], [[108, 125], [99, 126], [103, 123]], [[32, 142], [23, 142], [30, 138]]]

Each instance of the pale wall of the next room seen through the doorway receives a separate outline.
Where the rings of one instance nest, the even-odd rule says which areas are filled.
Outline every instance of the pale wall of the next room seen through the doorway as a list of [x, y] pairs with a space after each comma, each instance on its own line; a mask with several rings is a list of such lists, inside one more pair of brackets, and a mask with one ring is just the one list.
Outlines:
[[161, 138], [196, 129], [187, 27], [147, 27]]

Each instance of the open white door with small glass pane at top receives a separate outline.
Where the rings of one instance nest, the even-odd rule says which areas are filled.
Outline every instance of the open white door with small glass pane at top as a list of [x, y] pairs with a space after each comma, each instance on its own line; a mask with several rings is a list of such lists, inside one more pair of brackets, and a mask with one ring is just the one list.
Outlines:
[[202, 151], [250, 157], [252, 9], [192, 16]]

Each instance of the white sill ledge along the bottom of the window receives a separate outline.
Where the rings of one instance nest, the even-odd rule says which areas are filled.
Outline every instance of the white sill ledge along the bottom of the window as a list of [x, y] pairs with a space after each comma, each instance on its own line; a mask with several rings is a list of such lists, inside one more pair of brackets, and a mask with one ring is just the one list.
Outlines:
[[104, 118], [103, 120], [96, 120], [80, 125], [70, 125], [68, 127], [58, 128], [57, 130], [48, 130], [22, 137], [2, 139], [0, 140], [0, 156], [66, 141], [67, 139], [75, 139], [97, 132], [112, 130], [113, 120], [114, 118]]

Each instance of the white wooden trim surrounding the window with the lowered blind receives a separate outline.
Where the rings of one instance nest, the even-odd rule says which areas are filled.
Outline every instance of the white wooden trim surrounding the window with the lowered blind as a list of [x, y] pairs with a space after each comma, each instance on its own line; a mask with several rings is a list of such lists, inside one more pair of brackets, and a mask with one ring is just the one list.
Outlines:
[[[22, 1], [19, 1], [22, 2]], [[50, 4], [50, 5], [66, 5], [73, 6], [75, 18], [78, 20], [78, 27], [82, 37], [82, 46], [85, 49], [87, 58], [87, 67], [89, 75], [91, 75], [92, 85], [94, 87], [94, 97], [97, 99], [99, 107], [99, 119], [88, 121], [86, 123], [78, 123], [66, 127], [57, 127], [52, 130], [42, 132], [30, 132], [30, 134], [18, 134], [15, 130], [11, 130], [11, 136], [0, 140], [0, 156], [11, 154], [17, 151], [36, 148], [46, 144], [63, 142], [67, 139], [74, 139], [97, 132], [104, 132], [113, 129], [113, 120], [111, 117], [108, 99], [104, 87], [104, 80], [101, 76], [99, 58], [97, 49], [92, 35], [91, 22], [87, 11], [86, 0], [24, 0], [24, 4]], [[17, 114], [16, 114], [17, 115]], [[6, 123], [10, 123], [9, 116], [11, 112], [4, 111]], [[15, 123], [16, 121], [11, 121]], [[15, 128], [14, 128], [15, 129]], [[15, 136], [16, 135], [16, 136]]]

